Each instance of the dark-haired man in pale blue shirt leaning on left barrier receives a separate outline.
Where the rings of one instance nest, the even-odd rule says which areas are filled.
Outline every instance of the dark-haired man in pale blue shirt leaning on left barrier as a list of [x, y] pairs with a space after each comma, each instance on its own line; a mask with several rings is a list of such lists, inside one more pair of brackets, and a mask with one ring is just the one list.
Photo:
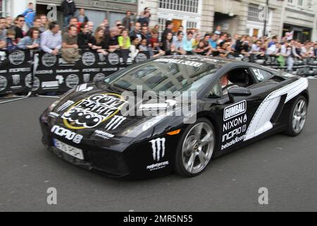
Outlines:
[[49, 30], [41, 35], [41, 49], [49, 54], [57, 55], [62, 46], [62, 37], [58, 23], [49, 23]]

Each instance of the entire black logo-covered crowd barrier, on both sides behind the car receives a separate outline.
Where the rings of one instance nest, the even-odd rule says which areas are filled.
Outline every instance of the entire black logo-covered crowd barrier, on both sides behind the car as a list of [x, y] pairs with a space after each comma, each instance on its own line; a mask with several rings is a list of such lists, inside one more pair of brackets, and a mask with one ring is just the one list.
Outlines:
[[[149, 59], [153, 54], [155, 53], [139, 52], [132, 60], [129, 50], [104, 56], [82, 49], [80, 59], [74, 64], [68, 64], [60, 55], [54, 56], [44, 52], [34, 54], [30, 51], [15, 50], [7, 56], [0, 52], [0, 95], [27, 93], [30, 90], [34, 94], [66, 93], [82, 83], [103, 80], [120, 69]], [[249, 57], [240, 55], [232, 58], [252, 61]], [[253, 58], [253, 61], [273, 69], [287, 71], [287, 64], [280, 66], [277, 57], [274, 56]], [[293, 73], [299, 76], [317, 76], [317, 59], [294, 59]]]

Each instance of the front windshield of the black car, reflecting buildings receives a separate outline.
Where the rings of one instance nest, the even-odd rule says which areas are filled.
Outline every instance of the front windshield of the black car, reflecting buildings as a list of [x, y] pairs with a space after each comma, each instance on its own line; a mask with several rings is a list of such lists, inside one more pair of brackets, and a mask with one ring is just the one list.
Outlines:
[[197, 91], [218, 68], [199, 61], [163, 58], [116, 73], [106, 83], [131, 91], [136, 91], [138, 86], [155, 93]]

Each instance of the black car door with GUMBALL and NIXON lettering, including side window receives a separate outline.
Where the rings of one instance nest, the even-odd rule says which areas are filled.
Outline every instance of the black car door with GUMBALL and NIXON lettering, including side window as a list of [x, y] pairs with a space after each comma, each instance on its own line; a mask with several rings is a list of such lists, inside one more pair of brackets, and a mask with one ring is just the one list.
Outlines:
[[[248, 68], [245, 68], [249, 76], [254, 76]], [[220, 151], [225, 152], [234, 148], [236, 145], [245, 141], [251, 120], [256, 114], [257, 109], [261, 105], [265, 95], [259, 95], [259, 92], [254, 92], [254, 87], [259, 85], [259, 82], [253, 77], [251, 85], [244, 89], [249, 89], [249, 95], [236, 95], [230, 98], [229, 95], [223, 95], [220, 82], [211, 89], [207, 101], [213, 102], [211, 112], [216, 117], [218, 124], [218, 134], [220, 141]]]

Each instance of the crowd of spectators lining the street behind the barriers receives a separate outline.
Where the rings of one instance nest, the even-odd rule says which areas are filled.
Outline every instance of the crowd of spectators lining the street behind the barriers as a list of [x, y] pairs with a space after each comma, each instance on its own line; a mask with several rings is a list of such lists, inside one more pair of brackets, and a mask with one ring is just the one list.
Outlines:
[[[201, 36], [197, 29], [173, 28], [168, 20], [160, 32], [159, 25], [149, 27], [149, 8], [138, 16], [128, 11], [122, 20], [109, 25], [95, 26], [89, 21], [84, 8], [75, 8], [75, 2], [64, 0], [61, 5], [63, 26], [49, 21], [45, 15], [37, 16], [32, 3], [14, 20], [0, 18], [0, 49], [40, 49], [50, 54], [62, 54], [65, 61], [73, 63], [80, 58], [79, 49], [91, 49], [107, 55], [125, 50], [133, 60], [142, 51], [151, 57], [163, 55], [204, 55], [213, 57], [249, 57], [250, 61], [276, 57], [280, 66], [287, 65], [291, 71], [295, 59], [317, 57], [317, 43], [292, 40], [290, 37], [250, 37], [230, 35], [218, 26], [214, 32]], [[27, 28], [27, 29], [25, 29]]]

